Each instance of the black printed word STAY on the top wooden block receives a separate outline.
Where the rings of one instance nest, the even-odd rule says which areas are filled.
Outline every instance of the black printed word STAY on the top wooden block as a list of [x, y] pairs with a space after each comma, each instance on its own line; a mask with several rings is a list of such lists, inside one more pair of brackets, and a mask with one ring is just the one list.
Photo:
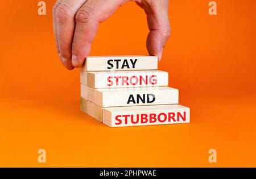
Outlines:
[[[122, 64], [119, 64], [119, 63]], [[108, 60], [108, 69], [135, 69], [135, 64], [137, 62], [137, 59], [130, 59], [129, 61], [124, 59], [123, 61], [121, 59], [117, 59], [117, 60]], [[130, 65], [129, 65], [130, 64]]]

